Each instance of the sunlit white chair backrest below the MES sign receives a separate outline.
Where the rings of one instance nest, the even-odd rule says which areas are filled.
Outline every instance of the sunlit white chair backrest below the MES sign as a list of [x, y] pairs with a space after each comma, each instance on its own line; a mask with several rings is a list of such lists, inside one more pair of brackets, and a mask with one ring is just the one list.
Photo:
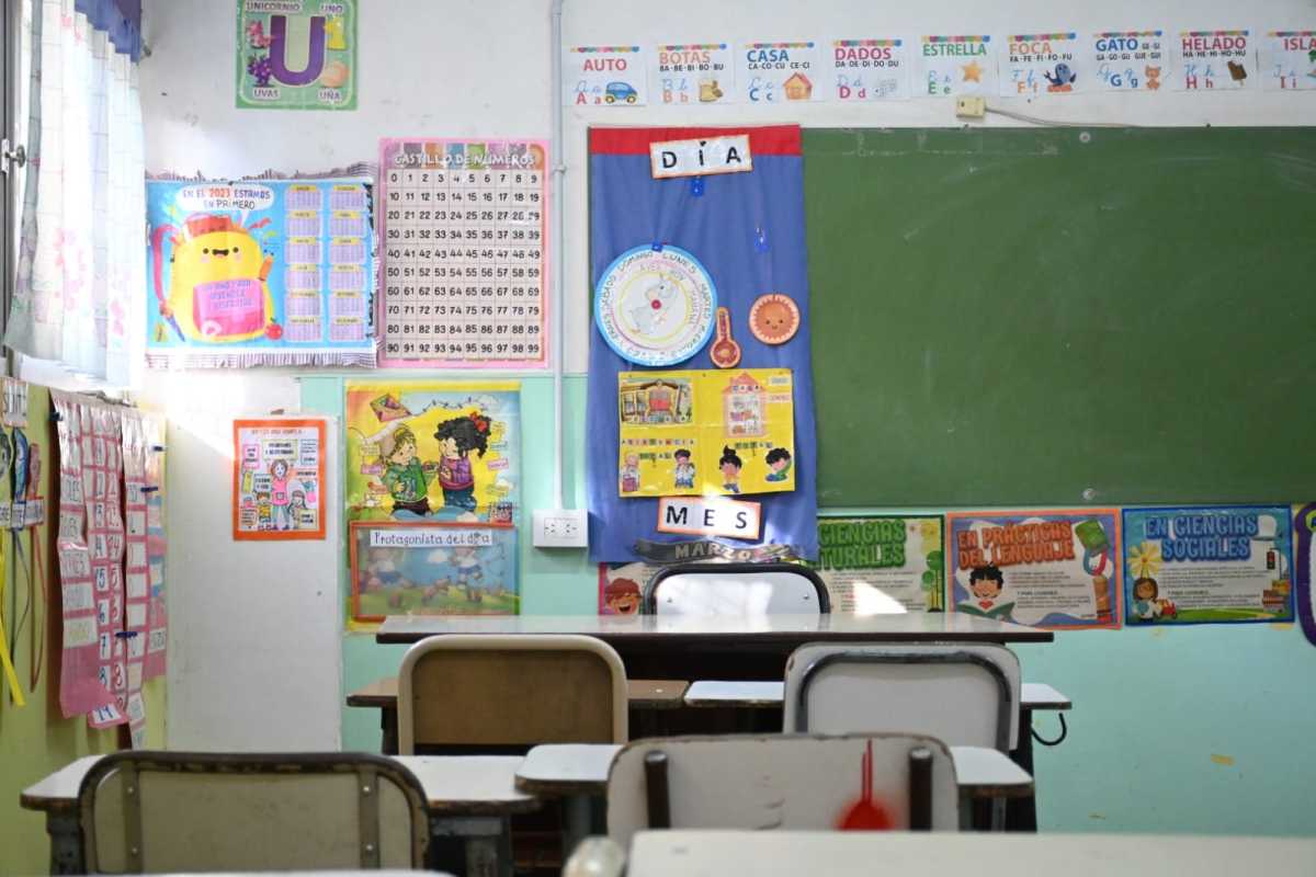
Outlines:
[[645, 611], [657, 615], [774, 615], [832, 611], [826, 585], [794, 563], [691, 563], [649, 582]]

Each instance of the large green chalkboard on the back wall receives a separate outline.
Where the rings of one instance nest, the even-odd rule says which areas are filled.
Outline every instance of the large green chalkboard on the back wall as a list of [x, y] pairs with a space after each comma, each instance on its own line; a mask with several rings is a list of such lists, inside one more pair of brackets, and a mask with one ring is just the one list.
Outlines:
[[809, 130], [822, 506], [1316, 496], [1316, 129]]

